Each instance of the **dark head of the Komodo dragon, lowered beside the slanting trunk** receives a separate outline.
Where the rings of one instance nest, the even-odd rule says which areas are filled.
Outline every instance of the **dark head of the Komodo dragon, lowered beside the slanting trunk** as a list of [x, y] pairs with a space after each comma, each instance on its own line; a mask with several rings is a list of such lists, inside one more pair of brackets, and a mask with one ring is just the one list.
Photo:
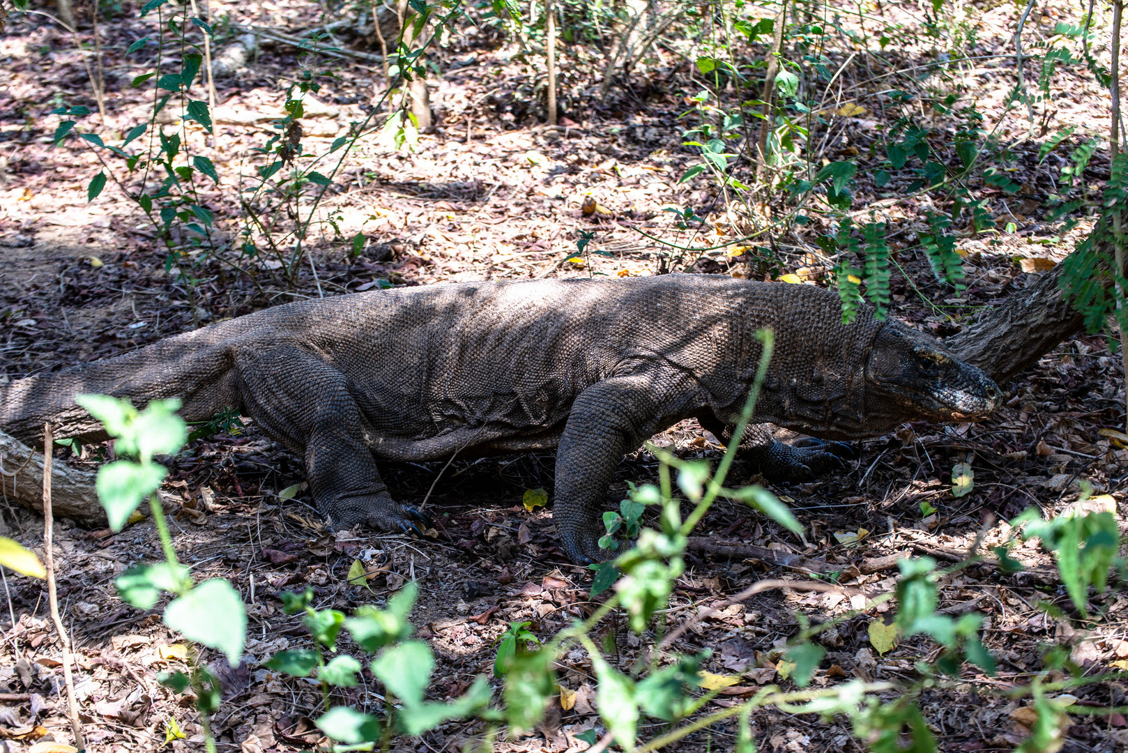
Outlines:
[[1002, 404], [1002, 391], [984, 371], [961, 361], [937, 340], [899, 323], [880, 329], [865, 375], [867, 397], [888, 401], [876, 413], [888, 415], [892, 423], [906, 418], [978, 421]]

